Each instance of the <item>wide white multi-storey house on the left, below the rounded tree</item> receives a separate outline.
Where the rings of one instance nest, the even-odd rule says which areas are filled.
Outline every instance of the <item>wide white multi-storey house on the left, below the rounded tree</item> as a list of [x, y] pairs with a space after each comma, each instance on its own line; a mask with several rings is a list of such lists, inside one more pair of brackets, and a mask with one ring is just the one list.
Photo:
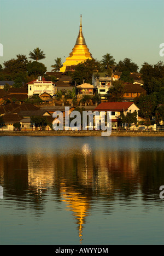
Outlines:
[[41, 95], [47, 92], [51, 96], [55, 95], [55, 84], [52, 81], [46, 81], [45, 78], [38, 77], [38, 79], [33, 80], [28, 83], [28, 97], [32, 95]]

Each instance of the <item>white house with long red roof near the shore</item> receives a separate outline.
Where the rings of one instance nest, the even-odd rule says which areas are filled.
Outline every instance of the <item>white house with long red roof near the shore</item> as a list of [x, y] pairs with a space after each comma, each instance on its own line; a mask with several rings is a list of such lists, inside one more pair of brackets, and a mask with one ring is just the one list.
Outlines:
[[121, 125], [120, 116], [122, 113], [126, 115], [127, 112], [137, 112], [139, 108], [133, 102], [102, 102], [99, 104], [95, 111], [111, 111], [112, 112], [112, 127], [118, 127]]

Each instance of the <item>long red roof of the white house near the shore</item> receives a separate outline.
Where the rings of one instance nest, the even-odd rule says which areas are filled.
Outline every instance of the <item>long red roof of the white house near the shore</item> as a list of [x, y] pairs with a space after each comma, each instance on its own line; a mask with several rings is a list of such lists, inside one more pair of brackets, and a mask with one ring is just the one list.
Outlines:
[[110, 110], [127, 110], [133, 102], [102, 102], [95, 110], [99, 111], [110, 111]]

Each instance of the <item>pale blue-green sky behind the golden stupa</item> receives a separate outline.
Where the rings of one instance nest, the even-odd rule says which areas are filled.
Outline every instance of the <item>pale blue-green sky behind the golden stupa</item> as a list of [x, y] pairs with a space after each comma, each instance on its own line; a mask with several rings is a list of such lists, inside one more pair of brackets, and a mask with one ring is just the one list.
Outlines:
[[163, 0], [0, 0], [0, 63], [27, 57], [34, 48], [46, 54], [42, 62], [51, 71], [54, 59], [69, 56], [79, 32], [92, 56], [101, 60], [110, 53], [115, 61], [164, 62], [159, 45], [164, 43]]

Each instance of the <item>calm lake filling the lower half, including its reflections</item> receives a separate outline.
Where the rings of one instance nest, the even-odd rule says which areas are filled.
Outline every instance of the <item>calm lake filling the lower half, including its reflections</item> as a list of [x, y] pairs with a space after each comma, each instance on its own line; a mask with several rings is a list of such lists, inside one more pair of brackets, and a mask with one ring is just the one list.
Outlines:
[[163, 245], [163, 137], [0, 137], [1, 245]]

